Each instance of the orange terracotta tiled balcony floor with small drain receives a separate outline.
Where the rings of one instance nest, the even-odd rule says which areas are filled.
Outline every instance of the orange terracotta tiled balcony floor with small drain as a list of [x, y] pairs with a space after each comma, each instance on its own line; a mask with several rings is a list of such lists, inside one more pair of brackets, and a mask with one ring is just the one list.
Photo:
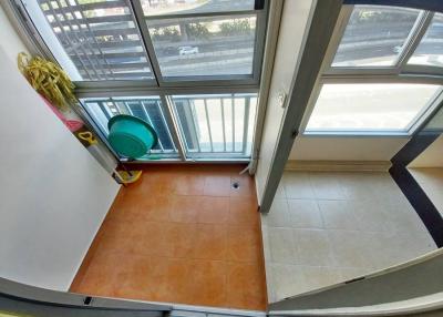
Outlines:
[[264, 310], [260, 219], [243, 168], [146, 167], [122, 187], [71, 292]]

